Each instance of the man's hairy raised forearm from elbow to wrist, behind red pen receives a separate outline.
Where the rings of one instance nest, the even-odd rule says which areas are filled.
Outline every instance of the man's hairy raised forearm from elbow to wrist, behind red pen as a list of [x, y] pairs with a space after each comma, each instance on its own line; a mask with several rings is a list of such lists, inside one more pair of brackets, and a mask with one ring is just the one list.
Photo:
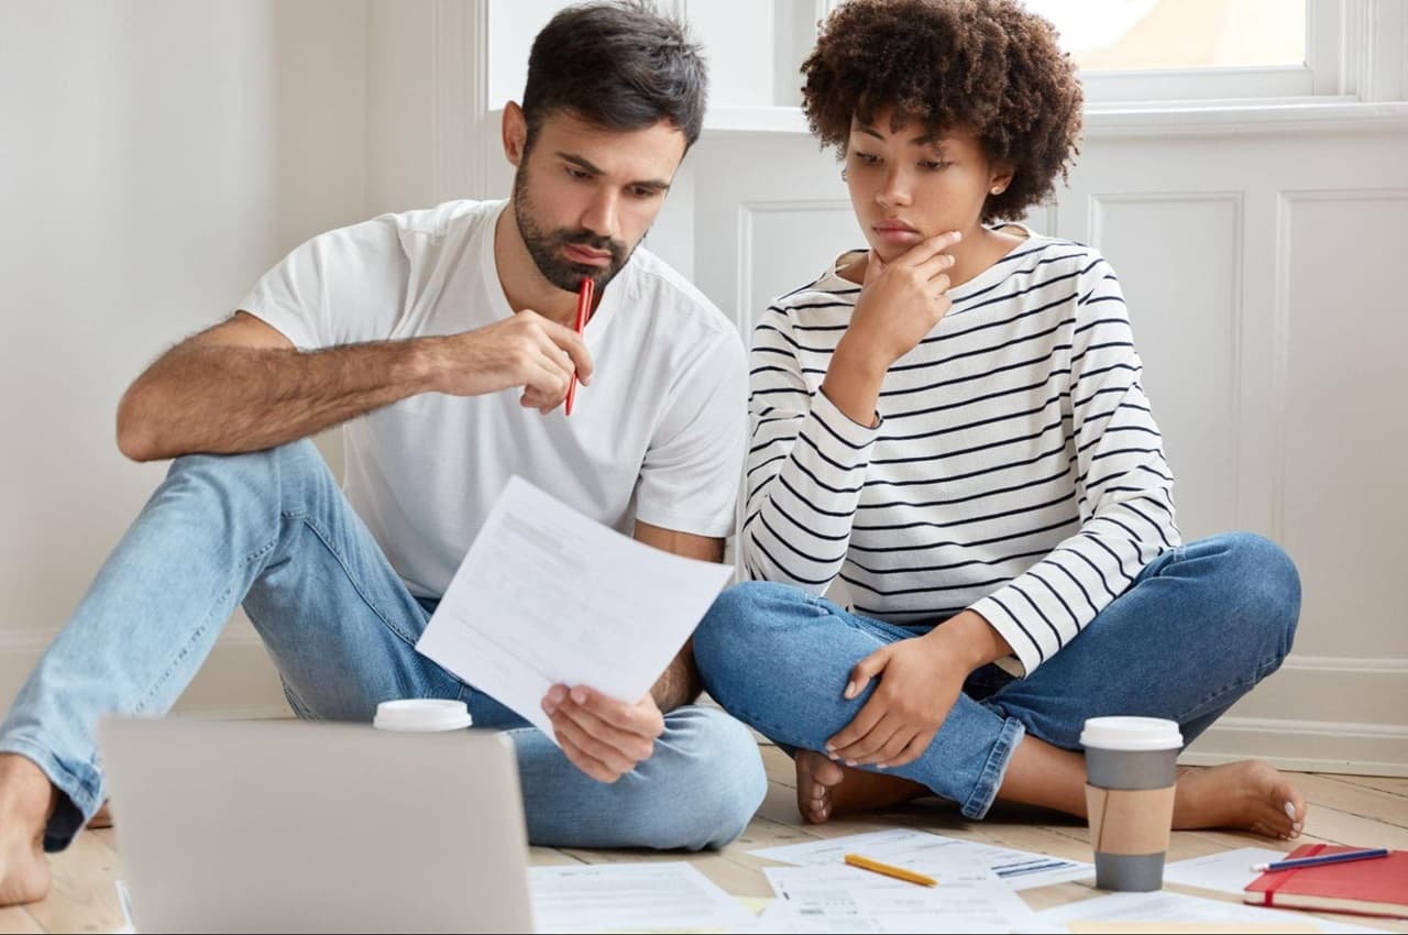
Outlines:
[[434, 339], [300, 352], [176, 348], [118, 407], [118, 446], [135, 460], [273, 448], [434, 389]]

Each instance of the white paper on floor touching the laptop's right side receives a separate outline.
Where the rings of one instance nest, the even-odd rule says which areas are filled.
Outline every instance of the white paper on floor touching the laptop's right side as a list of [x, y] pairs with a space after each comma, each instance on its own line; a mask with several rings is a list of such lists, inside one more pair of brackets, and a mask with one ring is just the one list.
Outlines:
[[683, 860], [531, 867], [528, 886], [538, 932], [724, 931], [753, 921]]

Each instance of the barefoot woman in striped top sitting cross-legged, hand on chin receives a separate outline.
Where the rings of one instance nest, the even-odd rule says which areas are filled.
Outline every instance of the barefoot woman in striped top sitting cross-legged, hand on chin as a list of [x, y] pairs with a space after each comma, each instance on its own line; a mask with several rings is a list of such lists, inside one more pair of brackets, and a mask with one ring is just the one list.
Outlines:
[[[1084, 720], [1195, 738], [1290, 651], [1295, 567], [1253, 535], [1180, 544], [1114, 270], [990, 225], [1076, 152], [1050, 25], [1008, 0], [850, 0], [803, 72], [869, 249], [755, 332], [759, 580], [700, 625], [705, 686], [796, 751], [808, 821], [929, 794], [1084, 815]], [[836, 579], [849, 610], [821, 597]], [[1177, 828], [1304, 820], [1266, 763], [1178, 777]]]

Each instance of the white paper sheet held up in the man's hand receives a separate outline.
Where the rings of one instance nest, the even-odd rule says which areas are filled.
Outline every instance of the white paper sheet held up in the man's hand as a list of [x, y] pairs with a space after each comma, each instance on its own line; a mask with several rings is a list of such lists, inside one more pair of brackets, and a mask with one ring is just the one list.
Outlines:
[[539, 707], [548, 689], [639, 700], [732, 573], [636, 542], [513, 477], [415, 649], [553, 736]]

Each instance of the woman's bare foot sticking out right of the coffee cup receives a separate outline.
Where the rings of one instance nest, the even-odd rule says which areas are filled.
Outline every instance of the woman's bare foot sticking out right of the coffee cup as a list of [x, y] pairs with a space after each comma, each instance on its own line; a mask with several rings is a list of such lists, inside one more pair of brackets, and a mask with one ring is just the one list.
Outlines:
[[1178, 773], [1173, 827], [1246, 828], [1290, 841], [1305, 827], [1305, 800], [1270, 763], [1242, 760]]

